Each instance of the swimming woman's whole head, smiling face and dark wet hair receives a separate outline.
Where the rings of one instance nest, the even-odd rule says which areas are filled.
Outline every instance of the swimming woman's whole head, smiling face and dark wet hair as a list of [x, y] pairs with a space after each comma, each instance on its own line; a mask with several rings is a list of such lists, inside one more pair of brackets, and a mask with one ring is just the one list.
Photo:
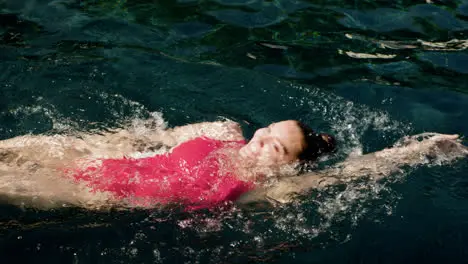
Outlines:
[[258, 129], [240, 154], [257, 165], [272, 166], [315, 160], [334, 148], [332, 136], [316, 134], [301, 122], [287, 120]]

